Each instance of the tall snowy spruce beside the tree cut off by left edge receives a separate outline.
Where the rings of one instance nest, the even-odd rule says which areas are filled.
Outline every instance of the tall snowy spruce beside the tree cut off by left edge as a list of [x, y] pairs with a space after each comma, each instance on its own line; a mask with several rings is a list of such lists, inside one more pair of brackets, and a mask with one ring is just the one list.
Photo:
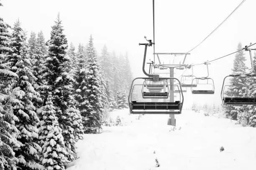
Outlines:
[[26, 35], [20, 28], [20, 22], [17, 21], [13, 27], [12, 38], [13, 53], [8, 58], [12, 62], [12, 70], [18, 75], [18, 80], [13, 85], [15, 103], [13, 103], [13, 114], [17, 118], [15, 123], [19, 133], [17, 139], [20, 148], [15, 149], [15, 156], [18, 158], [18, 170], [41, 169], [38, 164], [41, 147], [36, 143], [38, 139], [38, 129], [36, 123], [39, 119], [36, 114], [36, 107], [32, 101], [40, 102], [41, 98], [31, 85], [36, 77], [33, 76], [30, 68], [31, 63], [28, 55], [28, 45], [26, 44]]

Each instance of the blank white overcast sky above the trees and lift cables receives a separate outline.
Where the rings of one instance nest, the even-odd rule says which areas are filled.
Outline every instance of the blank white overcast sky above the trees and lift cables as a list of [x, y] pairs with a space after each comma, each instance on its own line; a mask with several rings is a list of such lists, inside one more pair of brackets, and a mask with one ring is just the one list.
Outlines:
[[[46, 40], [60, 13], [68, 42], [86, 44], [90, 34], [97, 52], [104, 44], [117, 54], [128, 52], [134, 77], [143, 76], [142, 60], [145, 42], [153, 38], [152, 0], [1, 0], [0, 15], [13, 25], [18, 18], [30, 32], [43, 30]], [[241, 0], [155, 0], [156, 52], [187, 52], [227, 17]], [[255, 0], [246, 2], [202, 45], [191, 52], [186, 63], [204, 62], [236, 51], [256, 42]], [[153, 59], [152, 48], [148, 57]], [[248, 56], [248, 53], [246, 53]], [[185, 102], [220, 104], [223, 78], [231, 73], [233, 56], [212, 62], [210, 77], [215, 80], [215, 95], [185, 94]], [[249, 58], [248, 58], [249, 59]], [[146, 69], [147, 70], [147, 69]], [[177, 71], [177, 70], [176, 70]], [[195, 67], [198, 77], [206, 74], [205, 66]], [[179, 77], [180, 72], [175, 76]], [[189, 90], [188, 90], [189, 91]]]

